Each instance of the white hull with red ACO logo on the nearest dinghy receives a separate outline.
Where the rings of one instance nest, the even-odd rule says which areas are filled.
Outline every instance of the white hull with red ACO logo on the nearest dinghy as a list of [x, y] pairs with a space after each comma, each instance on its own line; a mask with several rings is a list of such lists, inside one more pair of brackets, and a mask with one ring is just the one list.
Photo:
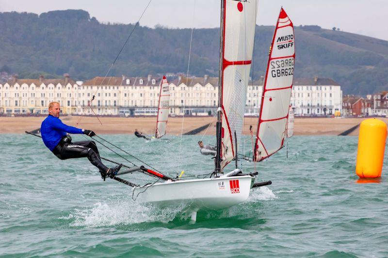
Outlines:
[[236, 176], [161, 182], [135, 189], [140, 202], [158, 206], [188, 206], [190, 210], [217, 210], [244, 202], [254, 177]]

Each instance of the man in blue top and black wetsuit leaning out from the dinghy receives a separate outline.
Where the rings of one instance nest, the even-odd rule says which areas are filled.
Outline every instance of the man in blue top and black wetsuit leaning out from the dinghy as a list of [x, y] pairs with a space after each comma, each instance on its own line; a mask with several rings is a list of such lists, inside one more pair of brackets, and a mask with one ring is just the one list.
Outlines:
[[87, 157], [89, 161], [99, 169], [101, 177], [104, 179], [107, 176], [113, 177], [122, 167], [120, 164], [117, 167], [106, 167], [102, 162], [94, 141], [77, 141], [72, 142], [69, 134], [84, 134], [90, 137], [96, 134], [91, 130], [85, 130], [68, 126], [64, 124], [59, 115], [61, 106], [58, 102], [51, 102], [49, 104], [49, 116], [42, 122], [40, 132], [42, 134], [43, 142], [46, 147], [54, 153], [58, 158], [74, 159]]

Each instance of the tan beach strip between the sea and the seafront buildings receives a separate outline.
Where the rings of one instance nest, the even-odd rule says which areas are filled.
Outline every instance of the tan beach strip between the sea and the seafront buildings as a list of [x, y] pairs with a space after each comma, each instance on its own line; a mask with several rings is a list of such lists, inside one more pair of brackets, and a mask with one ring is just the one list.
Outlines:
[[[0, 133], [24, 133], [40, 127], [45, 117], [0, 117]], [[63, 116], [61, 120], [71, 126], [76, 126], [79, 116]], [[156, 126], [156, 117], [82, 117], [78, 127], [94, 130], [97, 134], [133, 134], [135, 128], [139, 131], [153, 135]], [[339, 135], [345, 130], [359, 124], [365, 118], [295, 118], [294, 135]], [[388, 119], [379, 118], [386, 123]], [[213, 117], [171, 117], [168, 121], [167, 134], [180, 135], [200, 126], [213, 124], [201, 134], [215, 134], [215, 118]], [[257, 118], [246, 117], [244, 120], [244, 134], [249, 134], [249, 126], [253, 125], [256, 131]], [[358, 128], [351, 136], [358, 135]]]

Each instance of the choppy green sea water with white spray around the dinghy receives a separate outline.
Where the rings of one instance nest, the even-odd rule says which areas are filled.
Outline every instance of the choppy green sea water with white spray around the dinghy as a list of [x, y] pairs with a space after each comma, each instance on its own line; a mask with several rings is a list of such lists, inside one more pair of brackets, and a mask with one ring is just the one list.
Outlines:
[[[214, 160], [199, 152], [202, 136], [166, 136], [167, 142], [102, 137], [174, 177], [182, 170], [187, 176], [213, 168]], [[210, 136], [203, 141], [215, 143]], [[249, 153], [251, 140], [243, 143], [241, 152]], [[128, 164], [97, 145], [101, 156]], [[38, 137], [0, 135], [0, 254], [387, 257], [388, 150], [381, 182], [360, 184], [356, 137], [294, 136], [287, 145], [258, 164], [238, 162], [246, 172], [256, 166], [259, 180], [271, 185], [252, 191], [240, 205], [198, 212], [193, 225], [183, 208], [134, 201], [129, 186], [104, 182], [86, 158], [59, 160]]]

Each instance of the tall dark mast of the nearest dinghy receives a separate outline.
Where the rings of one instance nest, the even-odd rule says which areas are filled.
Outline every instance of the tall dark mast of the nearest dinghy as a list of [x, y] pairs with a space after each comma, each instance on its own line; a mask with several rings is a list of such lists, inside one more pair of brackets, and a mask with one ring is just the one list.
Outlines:
[[224, 0], [221, 0], [221, 19], [220, 19], [220, 67], [218, 75], [218, 109], [217, 109], [217, 124], [216, 124], [216, 137], [217, 137], [217, 152], [215, 156], [215, 168], [214, 172], [217, 175], [221, 171], [221, 104], [222, 104], [222, 79], [223, 79], [223, 61], [224, 61], [224, 14], [225, 4]]

